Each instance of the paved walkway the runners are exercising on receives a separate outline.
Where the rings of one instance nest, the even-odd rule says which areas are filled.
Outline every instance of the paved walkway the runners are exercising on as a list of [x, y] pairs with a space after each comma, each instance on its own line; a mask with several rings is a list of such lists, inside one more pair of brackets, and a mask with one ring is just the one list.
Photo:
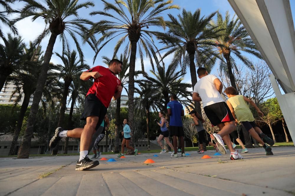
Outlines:
[[[295, 195], [294, 147], [274, 147], [273, 156], [250, 149], [244, 160], [212, 150], [186, 153], [102, 155], [116, 162], [86, 171], [75, 171], [78, 156], [0, 158], [0, 195]], [[150, 158], [155, 163], [143, 163]], [[39, 178], [47, 172], [53, 173]]]

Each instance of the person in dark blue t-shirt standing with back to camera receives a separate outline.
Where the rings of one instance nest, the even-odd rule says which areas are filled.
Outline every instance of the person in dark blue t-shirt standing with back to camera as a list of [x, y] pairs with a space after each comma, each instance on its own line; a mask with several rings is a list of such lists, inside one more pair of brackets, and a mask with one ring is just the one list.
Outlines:
[[178, 101], [176, 101], [177, 97], [175, 94], [170, 96], [170, 102], [167, 104], [168, 115], [170, 116], [170, 135], [173, 136], [173, 147], [174, 153], [171, 157], [178, 157], [177, 155], [177, 137], [180, 138], [181, 143], [181, 156], [185, 157], [184, 153], [184, 131], [182, 127], [182, 120], [181, 116], [184, 116], [184, 110]]

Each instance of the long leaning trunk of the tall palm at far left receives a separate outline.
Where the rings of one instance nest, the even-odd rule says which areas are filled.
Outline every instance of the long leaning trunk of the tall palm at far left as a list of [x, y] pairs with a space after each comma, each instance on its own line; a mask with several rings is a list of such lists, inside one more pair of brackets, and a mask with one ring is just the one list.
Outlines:
[[36, 91], [34, 93], [33, 103], [30, 109], [30, 114], [27, 121], [27, 128], [24, 133], [24, 139], [22, 140], [21, 146], [19, 148], [19, 154], [17, 158], [29, 158], [30, 148], [31, 148], [31, 139], [34, 132], [34, 125], [36, 122], [36, 115], [39, 108], [39, 103], [42, 97], [43, 88], [47, 79], [47, 71], [49, 66], [49, 61], [52, 56], [53, 46], [56, 41], [57, 34], [51, 33], [49, 42], [44, 54], [43, 65], [40, 70], [40, 75], [37, 81]]

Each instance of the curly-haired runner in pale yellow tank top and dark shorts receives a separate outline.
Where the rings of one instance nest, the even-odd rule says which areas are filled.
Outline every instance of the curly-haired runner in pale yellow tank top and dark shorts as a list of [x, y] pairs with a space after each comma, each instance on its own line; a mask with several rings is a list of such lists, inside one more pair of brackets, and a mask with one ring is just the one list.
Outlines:
[[261, 129], [256, 126], [255, 119], [246, 101], [255, 108], [255, 110], [258, 112], [258, 115], [263, 116], [263, 113], [260, 111], [257, 105], [251, 99], [248, 99], [247, 97], [242, 95], [237, 95], [236, 89], [232, 86], [227, 87], [224, 90], [224, 93], [228, 97], [226, 103], [230, 108], [232, 115], [236, 116], [236, 123], [241, 123], [241, 125], [249, 131], [250, 135], [261, 145], [263, 145], [266, 155], [273, 155], [273, 153], [271, 152], [271, 147], [269, 147], [265, 143], [268, 143], [272, 146], [274, 142], [271, 138], [262, 133]]

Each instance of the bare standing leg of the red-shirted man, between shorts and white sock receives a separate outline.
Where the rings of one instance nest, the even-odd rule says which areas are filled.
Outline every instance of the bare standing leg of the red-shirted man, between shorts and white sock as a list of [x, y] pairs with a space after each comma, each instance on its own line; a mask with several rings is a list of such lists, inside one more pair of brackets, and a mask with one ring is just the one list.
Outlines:
[[95, 132], [98, 123], [98, 116], [89, 116], [86, 118], [86, 125], [81, 133], [80, 151], [89, 149], [89, 141], [92, 140], [92, 135]]

